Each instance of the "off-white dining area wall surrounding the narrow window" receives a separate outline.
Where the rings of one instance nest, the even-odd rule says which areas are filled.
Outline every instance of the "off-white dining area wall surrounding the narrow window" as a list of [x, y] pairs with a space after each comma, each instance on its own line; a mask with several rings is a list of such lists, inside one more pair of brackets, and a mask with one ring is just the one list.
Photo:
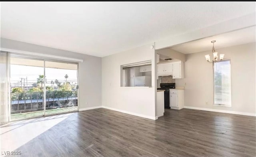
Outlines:
[[[232, 107], [213, 106], [213, 69], [204, 51], [186, 55], [185, 78], [176, 79], [176, 86], [185, 86], [185, 106], [232, 111], [255, 115], [255, 43], [216, 49], [231, 59]], [[208, 101], [208, 104], [206, 104]], [[232, 113], [230, 112], [230, 113]]]

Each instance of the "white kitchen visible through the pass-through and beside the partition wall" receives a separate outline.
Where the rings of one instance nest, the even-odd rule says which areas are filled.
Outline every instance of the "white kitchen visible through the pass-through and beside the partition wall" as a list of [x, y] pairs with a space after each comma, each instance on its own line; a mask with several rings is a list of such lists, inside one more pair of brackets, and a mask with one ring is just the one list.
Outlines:
[[[184, 87], [176, 86], [176, 79], [184, 78], [184, 62], [157, 54], [156, 116], [164, 116], [164, 109], [184, 107]], [[152, 63], [144, 61], [121, 67], [121, 87], [151, 88]]]

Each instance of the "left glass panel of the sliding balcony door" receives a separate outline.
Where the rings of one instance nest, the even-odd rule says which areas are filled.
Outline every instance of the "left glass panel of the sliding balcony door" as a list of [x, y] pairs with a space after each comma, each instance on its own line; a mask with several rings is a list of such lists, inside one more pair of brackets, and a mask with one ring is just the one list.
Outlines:
[[44, 115], [44, 61], [10, 57], [10, 118]]

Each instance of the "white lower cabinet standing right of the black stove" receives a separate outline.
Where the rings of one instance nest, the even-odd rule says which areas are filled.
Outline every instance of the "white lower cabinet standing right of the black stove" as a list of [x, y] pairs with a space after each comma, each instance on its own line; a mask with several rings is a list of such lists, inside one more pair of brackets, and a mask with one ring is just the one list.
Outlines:
[[170, 89], [170, 107], [176, 110], [184, 108], [183, 89]]

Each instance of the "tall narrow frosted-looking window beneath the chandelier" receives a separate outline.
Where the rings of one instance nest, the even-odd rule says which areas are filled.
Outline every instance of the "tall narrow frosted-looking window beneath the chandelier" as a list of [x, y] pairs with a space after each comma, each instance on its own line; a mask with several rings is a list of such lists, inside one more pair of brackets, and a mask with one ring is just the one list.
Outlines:
[[231, 106], [230, 59], [214, 63], [214, 104]]

